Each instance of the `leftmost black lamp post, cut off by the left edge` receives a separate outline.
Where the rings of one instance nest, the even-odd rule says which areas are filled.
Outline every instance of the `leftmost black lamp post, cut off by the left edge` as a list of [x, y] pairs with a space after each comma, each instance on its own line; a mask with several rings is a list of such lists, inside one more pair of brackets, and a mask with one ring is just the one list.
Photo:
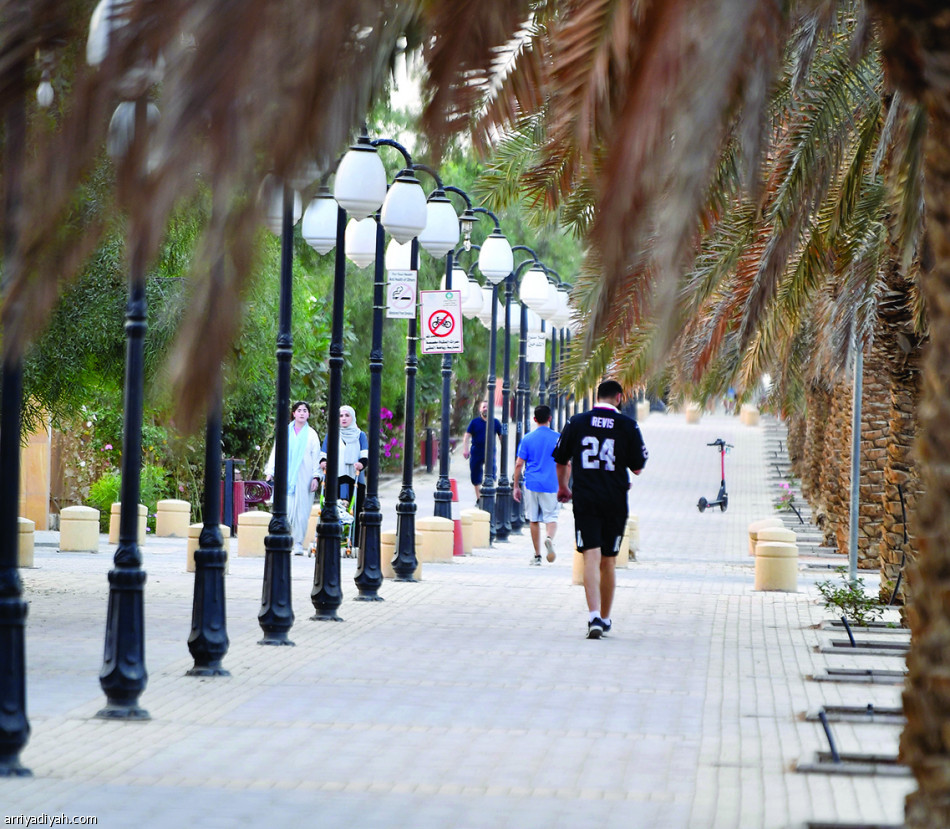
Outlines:
[[[14, 5], [14, 13], [24, 13], [25, 4]], [[9, 23], [10, 21], [8, 21]], [[20, 85], [26, 74], [21, 60], [7, 71], [13, 75], [11, 88]], [[23, 158], [26, 150], [26, 105], [22, 97], [7, 109], [3, 147], [3, 292], [19, 260], [20, 208], [23, 197]], [[20, 409], [23, 403], [23, 371], [18, 343], [11, 335], [15, 310], [3, 306], [2, 409], [0, 409], [0, 777], [32, 774], [20, 764], [20, 751], [30, 737], [26, 716], [26, 615], [18, 561], [20, 499]]]

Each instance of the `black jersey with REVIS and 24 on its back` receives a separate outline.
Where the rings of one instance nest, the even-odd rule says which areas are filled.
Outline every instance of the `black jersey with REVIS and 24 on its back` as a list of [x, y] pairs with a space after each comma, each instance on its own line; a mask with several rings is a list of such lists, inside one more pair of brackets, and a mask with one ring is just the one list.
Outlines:
[[554, 447], [554, 460], [571, 462], [574, 502], [626, 503], [631, 472], [643, 469], [647, 449], [637, 422], [611, 407], [576, 414]]

